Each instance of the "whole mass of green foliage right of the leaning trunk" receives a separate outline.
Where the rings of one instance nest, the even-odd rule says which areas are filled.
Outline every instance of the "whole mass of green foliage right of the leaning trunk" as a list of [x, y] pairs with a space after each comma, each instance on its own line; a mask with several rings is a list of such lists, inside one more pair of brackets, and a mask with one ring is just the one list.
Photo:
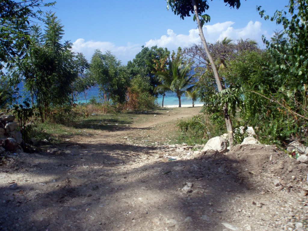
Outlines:
[[[286, 11], [265, 20], [282, 24], [264, 52], [241, 52], [227, 62], [225, 78], [242, 87], [241, 124], [258, 127], [257, 137], [268, 144], [307, 143], [308, 1], [289, 1]], [[287, 12], [288, 11], [288, 12]], [[291, 15], [291, 17], [290, 17]]]

